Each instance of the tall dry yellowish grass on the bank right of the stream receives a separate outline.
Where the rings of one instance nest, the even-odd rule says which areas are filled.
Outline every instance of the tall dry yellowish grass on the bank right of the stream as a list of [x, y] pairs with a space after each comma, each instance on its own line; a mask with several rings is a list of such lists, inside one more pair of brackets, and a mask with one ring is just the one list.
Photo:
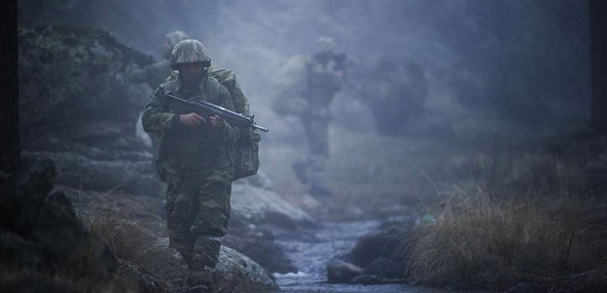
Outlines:
[[407, 277], [468, 289], [521, 282], [539, 291], [607, 289], [607, 209], [589, 196], [576, 164], [478, 157], [475, 180], [456, 185], [433, 211], [435, 221], [404, 240]]

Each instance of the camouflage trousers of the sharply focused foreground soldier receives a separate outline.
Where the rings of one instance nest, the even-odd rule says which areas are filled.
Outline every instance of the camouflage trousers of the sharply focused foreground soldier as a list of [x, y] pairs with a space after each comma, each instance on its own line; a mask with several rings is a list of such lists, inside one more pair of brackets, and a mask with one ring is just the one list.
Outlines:
[[190, 286], [211, 285], [220, 237], [228, 231], [232, 177], [228, 171], [168, 174], [167, 184], [169, 246], [188, 264]]

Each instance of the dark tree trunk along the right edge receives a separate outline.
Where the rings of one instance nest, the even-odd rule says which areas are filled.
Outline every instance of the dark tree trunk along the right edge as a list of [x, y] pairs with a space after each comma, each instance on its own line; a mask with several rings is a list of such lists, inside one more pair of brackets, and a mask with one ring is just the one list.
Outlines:
[[592, 110], [590, 123], [607, 133], [607, 1], [590, 0]]

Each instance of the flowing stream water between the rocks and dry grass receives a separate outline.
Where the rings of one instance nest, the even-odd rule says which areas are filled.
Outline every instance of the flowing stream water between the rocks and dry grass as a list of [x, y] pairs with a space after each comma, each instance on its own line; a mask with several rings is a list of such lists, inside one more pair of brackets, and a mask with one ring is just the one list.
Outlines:
[[381, 223], [375, 220], [327, 222], [314, 231], [300, 234], [277, 234], [276, 240], [299, 268], [297, 274], [274, 274], [282, 292], [447, 292], [445, 289], [422, 288], [403, 284], [348, 285], [327, 283], [327, 263], [335, 255], [350, 251], [362, 235], [375, 231]]

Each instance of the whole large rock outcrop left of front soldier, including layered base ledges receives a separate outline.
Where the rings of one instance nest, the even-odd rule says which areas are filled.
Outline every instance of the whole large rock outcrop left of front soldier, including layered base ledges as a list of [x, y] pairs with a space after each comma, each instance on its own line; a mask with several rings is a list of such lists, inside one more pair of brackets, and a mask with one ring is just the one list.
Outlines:
[[19, 29], [25, 154], [51, 157], [59, 183], [154, 193], [151, 149], [135, 123], [151, 91], [129, 81], [152, 58], [93, 28]]

